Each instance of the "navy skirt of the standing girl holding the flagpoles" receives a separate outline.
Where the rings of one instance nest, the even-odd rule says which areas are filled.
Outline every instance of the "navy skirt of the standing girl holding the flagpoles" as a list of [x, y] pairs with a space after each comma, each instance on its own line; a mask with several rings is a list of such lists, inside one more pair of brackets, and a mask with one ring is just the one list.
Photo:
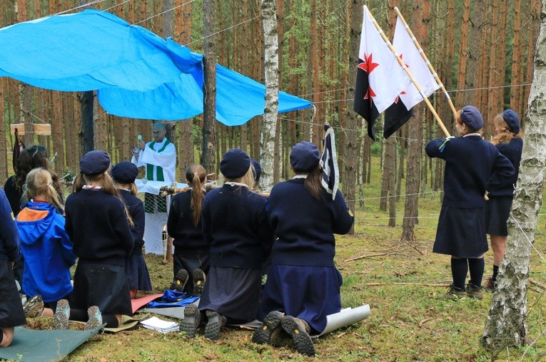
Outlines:
[[485, 207], [442, 206], [433, 252], [457, 258], [477, 258], [487, 252]]

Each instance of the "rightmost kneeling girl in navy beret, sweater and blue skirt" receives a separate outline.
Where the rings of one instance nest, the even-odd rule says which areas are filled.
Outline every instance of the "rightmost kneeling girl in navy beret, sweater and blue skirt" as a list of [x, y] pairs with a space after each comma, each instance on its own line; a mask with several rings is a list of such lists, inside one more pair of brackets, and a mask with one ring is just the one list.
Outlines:
[[273, 187], [268, 217], [277, 239], [263, 290], [256, 343], [271, 343], [282, 326], [298, 352], [315, 354], [310, 334], [321, 333], [326, 316], [341, 310], [342, 277], [334, 264], [334, 234], [346, 234], [354, 217], [343, 195], [335, 200], [322, 185], [318, 148], [309, 142], [295, 145], [290, 165], [295, 177]]

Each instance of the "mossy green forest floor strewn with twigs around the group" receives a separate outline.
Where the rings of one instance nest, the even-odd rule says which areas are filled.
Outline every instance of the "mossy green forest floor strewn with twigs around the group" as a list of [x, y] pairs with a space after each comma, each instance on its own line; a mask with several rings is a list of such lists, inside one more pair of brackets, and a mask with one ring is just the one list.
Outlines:
[[[379, 172], [374, 177], [379, 177]], [[299, 355], [288, 339], [281, 346], [252, 343], [252, 331], [226, 328], [218, 341], [202, 333], [161, 334], [138, 326], [131, 331], [101, 333], [76, 349], [67, 361], [538, 361], [546, 352], [545, 290], [530, 284], [527, 293], [528, 340], [532, 346], [485, 351], [480, 347], [492, 294], [482, 301], [441, 301], [451, 281], [449, 257], [431, 252], [440, 212], [440, 193], [428, 188], [419, 198], [415, 241], [400, 241], [404, 197], [398, 201], [397, 226], [388, 227], [388, 213], [379, 210], [380, 182], [363, 190], [355, 234], [336, 238], [335, 262], [343, 275], [343, 307], [369, 304], [368, 319], [333, 331], [315, 341], [316, 356]], [[358, 208], [358, 205], [357, 205]], [[542, 208], [541, 214], [545, 214]], [[546, 249], [546, 218], [540, 217], [535, 247]], [[351, 258], [360, 259], [350, 260]], [[153, 293], [172, 281], [172, 264], [146, 255]], [[491, 274], [492, 252], [485, 255], [485, 278]], [[546, 284], [546, 262], [533, 251], [530, 278]], [[161, 317], [161, 316], [160, 316]], [[164, 317], [161, 317], [164, 318]]]

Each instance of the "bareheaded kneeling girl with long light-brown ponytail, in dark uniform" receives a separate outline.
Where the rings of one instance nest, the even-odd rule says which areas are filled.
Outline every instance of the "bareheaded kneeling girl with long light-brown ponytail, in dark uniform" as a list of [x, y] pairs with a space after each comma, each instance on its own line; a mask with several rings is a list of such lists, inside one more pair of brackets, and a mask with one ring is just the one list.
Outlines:
[[[205, 286], [205, 275], [210, 265], [208, 244], [201, 227], [201, 209], [205, 200], [206, 170], [191, 165], [186, 170], [187, 192], [173, 196], [168, 212], [167, 230], [173, 237], [173, 274], [171, 289], [199, 295]], [[189, 275], [193, 281], [188, 283]]]

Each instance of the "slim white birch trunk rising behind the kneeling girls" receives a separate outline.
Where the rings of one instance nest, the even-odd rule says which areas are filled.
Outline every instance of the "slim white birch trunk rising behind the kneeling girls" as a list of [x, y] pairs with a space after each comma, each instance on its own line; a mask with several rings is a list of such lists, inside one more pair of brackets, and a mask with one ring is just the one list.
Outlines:
[[262, 0], [263, 40], [265, 44], [266, 108], [261, 132], [260, 187], [273, 187], [273, 157], [278, 111], [278, 33], [275, 0]]

